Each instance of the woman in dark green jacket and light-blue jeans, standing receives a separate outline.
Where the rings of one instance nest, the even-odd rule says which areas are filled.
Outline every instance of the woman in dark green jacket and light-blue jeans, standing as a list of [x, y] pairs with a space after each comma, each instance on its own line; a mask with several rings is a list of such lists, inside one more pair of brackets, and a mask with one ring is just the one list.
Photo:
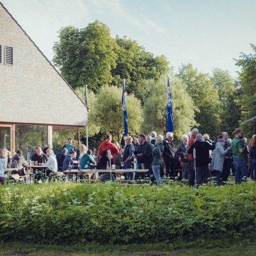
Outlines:
[[163, 140], [161, 138], [156, 139], [156, 146], [153, 149], [153, 163], [152, 170], [156, 178], [156, 184], [159, 186], [162, 183], [160, 176], [160, 165], [163, 163], [162, 155], [164, 152]]

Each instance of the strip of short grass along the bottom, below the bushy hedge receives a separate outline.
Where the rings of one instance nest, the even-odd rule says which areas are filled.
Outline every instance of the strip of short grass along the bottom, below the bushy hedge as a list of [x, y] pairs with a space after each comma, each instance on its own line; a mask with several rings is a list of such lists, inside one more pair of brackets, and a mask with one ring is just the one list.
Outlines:
[[255, 241], [196, 241], [188, 244], [155, 243], [130, 245], [2, 243], [0, 256], [255, 256]]

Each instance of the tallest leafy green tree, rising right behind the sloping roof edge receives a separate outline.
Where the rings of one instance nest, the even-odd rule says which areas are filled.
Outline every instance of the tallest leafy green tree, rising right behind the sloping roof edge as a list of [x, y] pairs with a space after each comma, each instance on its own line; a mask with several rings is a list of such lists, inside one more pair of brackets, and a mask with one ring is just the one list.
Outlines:
[[74, 88], [88, 84], [89, 90], [111, 83], [116, 67], [115, 39], [108, 26], [96, 20], [86, 28], [61, 28], [59, 42], [54, 43], [53, 63]]

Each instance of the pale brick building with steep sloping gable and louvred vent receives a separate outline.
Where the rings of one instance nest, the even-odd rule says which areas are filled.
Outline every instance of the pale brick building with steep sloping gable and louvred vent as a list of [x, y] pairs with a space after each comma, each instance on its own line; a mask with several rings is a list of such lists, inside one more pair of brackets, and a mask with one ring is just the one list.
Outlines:
[[0, 109], [0, 148], [12, 153], [88, 125], [87, 106], [1, 2]]

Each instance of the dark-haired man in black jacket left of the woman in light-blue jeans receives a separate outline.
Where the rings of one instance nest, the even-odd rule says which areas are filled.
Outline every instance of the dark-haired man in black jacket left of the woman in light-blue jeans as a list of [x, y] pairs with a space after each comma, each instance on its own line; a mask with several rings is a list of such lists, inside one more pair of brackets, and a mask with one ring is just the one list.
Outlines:
[[[150, 143], [148, 143], [146, 141], [145, 134], [143, 134], [143, 133], [139, 134], [138, 135], [138, 140], [140, 141], [140, 145], [136, 149], [133, 148], [134, 155], [137, 156], [139, 169], [141, 169], [141, 164], [144, 164], [144, 168], [148, 169], [148, 172], [145, 173], [145, 174], [147, 176], [149, 176], [150, 173], [152, 172], [153, 148], [150, 145]], [[138, 174], [139, 173], [135, 174], [134, 179], [139, 178]], [[142, 175], [142, 177], [144, 177], [144, 175]]]

